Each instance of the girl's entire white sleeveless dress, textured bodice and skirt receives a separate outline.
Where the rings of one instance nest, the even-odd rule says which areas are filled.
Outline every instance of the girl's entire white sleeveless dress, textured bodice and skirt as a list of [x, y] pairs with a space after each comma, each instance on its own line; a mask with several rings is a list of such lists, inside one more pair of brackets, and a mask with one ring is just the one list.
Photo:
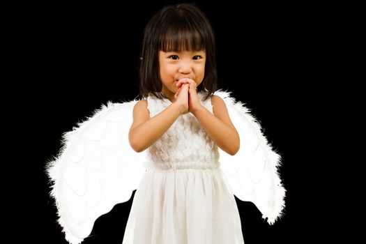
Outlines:
[[[213, 113], [211, 98], [201, 105]], [[150, 118], [171, 105], [148, 96]], [[123, 244], [242, 244], [234, 195], [220, 169], [218, 146], [190, 112], [148, 149]]]

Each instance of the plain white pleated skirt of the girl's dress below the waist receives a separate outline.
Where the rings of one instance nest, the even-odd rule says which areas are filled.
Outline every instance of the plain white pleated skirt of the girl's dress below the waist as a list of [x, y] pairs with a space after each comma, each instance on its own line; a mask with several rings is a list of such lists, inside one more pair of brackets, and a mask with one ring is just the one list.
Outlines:
[[234, 195], [220, 168], [148, 169], [123, 244], [243, 244]]

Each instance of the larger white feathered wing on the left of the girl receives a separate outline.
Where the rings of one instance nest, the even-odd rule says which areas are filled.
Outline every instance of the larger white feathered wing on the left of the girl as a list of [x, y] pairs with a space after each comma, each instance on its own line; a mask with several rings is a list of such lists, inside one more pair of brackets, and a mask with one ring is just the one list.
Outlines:
[[59, 224], [69, 243], [89, 236], [95, 220], [128, 201], [146, 171], [146, 151], [128, 142], [137, 100], [108, 102], [78, 128], [63, 134], [59, 156], [47, 162]]

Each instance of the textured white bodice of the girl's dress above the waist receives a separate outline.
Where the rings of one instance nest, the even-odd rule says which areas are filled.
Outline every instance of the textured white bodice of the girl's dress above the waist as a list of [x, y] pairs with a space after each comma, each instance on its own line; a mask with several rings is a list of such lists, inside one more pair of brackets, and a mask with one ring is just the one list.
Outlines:
[[[198, 96], [201, 105], [213, 113], [211, 98], [204, 101], [202, 92]], [[153, 96], [148, 96], [147, 102], [150, 118], [171, 105], [169, 99]], [[211, 169], [220, 166], [218, 146], [190, 112], [181, 114], [162, 137], [148, 148], [147, 157], [148, 169]]]

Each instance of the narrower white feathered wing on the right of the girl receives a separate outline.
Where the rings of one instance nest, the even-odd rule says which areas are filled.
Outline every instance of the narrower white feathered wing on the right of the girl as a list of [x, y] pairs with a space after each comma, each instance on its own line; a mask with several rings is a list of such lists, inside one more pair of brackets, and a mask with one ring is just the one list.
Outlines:
[[219, 148], [220, 168], [224, 172], [232, 193], [242, 201], [252, 201], [262, 218], [273, 224], [282, 215], [284, 189], [278, 167], [281, 157], [267, 142], [261, 125], [242, 102], [227, 91], [216, 91], [227, 105], [229, 116], [240, 136], [241, 147], [236, 155]]

